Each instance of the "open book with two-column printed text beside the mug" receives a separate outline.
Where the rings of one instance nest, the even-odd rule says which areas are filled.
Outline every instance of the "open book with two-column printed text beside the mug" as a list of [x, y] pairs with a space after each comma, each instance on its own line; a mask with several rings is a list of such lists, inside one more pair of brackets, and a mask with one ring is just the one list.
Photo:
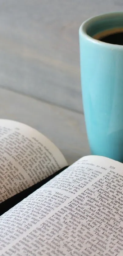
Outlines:
[[41, 133], [0, 120], [0, 256], [123, 255], [123, 164], [66, 166]]

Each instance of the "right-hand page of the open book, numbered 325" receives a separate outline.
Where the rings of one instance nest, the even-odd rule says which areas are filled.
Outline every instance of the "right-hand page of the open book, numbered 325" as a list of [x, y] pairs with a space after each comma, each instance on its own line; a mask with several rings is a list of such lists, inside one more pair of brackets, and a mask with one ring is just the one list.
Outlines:
[[83, 157], [0, 217], [1, 256], [123, 255], [123, 164]]

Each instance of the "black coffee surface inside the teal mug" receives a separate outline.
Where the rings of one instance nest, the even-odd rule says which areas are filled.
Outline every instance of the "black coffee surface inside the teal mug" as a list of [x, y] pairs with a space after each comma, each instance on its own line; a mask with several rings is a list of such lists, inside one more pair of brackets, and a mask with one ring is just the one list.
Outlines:
[[110, 35], [101, 37], [98, 40], [105, 43], [123, 45], [123, 32], [118, 32], [114, 34], [112, 33]]

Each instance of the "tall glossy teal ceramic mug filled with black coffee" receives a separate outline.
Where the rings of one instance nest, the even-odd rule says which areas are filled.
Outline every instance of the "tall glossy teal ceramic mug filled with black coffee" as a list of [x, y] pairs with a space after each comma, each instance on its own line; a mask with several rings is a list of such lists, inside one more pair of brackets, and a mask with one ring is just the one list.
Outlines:
[[91, 152], [123, 162], [123, 13], [106, 13], [85, 21], [79, 41]]

